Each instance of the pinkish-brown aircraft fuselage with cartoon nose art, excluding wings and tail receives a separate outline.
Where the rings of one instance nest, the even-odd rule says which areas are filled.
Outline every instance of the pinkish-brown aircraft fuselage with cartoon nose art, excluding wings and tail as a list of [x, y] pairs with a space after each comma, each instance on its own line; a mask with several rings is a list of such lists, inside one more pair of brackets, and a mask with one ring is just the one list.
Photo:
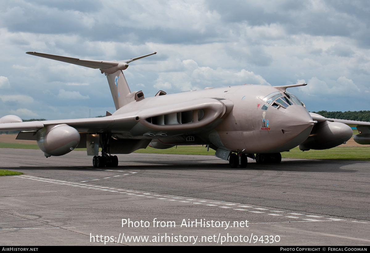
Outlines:
[[[279, 153], [306, 140], [314, 123], [302, 104], [286, 104], [285, 108], [280, 104], [274, 107], [263, 101], [263, 98], [274, 92], [285, 96], [272, 86], [252, 84], [186, 91], [133, 101], [118, 109], [113, 116], [193, 99], [229, 100], [233, 103], [232, 111], [214, 130], [160, 138], [152, 141], [149, 146], [168, 148], [175, 145], [212, 143], [236, 153]], [[119, 135], [116, 137], [119, 138]]]

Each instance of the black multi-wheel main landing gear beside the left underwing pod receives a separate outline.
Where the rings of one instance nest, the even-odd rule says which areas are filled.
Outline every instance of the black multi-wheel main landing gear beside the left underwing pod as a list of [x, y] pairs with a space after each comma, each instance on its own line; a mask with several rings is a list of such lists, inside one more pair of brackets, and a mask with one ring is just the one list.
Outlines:
[[118, 166], [118, 157], [111, 156], [109, 153], [109, 140], [111, 138], [110, 134], [102, 134], [101, 136], [101, 156], [92, 157], [92, 166], [95, 168], [104, 168], [107, 167], [117, 167]]

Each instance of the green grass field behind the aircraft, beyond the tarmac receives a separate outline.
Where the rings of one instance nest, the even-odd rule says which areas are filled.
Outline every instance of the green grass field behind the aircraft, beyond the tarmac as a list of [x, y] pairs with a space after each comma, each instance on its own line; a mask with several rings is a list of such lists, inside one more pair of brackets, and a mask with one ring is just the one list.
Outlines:
[[[357, 130], [353, 131], [358, 134]], [[13, 149], [38, 149], [35, 141], [15, 140], [13, 134], [1, 134], [0, 148]], [[2, 141], [2, 142], [1, 142]], [[18, 142], [18, 143], [15, 143]], [[31, 144], [34, 143], [34, 144]], [[86, 149], [76, 149], [86, 150]], [[210, 155], [213, 156], [215, 151], [210, 149], [207, 152], [206, 146], [177, 146], [169, 149], [154, 149], [147, 147], [139, 149], [135, 153], [155, 153], [155, 154], [189, 154], [189, 155]], [[370, 161], [370, 145], [360, 145], [351, 138], [347, 144], [342, 144], [338, 147], [326, 150], [309, 150], [302, 152], [298, 147], [290, 150], [290, 152], [282, 152], [283, 158], [296, 159], [329, 159], [329, 160], [357, 160]]]

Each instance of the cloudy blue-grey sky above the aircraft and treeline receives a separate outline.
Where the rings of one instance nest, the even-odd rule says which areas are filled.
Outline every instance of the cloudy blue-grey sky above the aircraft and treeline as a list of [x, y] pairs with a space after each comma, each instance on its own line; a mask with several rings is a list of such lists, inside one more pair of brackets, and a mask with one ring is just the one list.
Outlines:
[[370, 110], [369, 1], [0, 0], [0, 115], [114, 112], [99, 70], [25, 54], [134, 61], [131, 91], [284, 85], [309, 111]]

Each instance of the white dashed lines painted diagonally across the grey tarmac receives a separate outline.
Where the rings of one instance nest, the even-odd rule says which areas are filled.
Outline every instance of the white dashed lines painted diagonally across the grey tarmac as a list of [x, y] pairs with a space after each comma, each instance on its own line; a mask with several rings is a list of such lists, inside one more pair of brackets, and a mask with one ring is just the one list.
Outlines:
[[[135, 174], [137, 172], [130, 172], [130, 173]], [[121, 175], [118, 175], [118, 176], [121, 176]], [[160, 194], [143, 193], [143, 192], [138, 192], [138, 191], [134, 191], [134, 190], [123, 190], [123, 189], [117, 189], [117, 188], [110, 188], [110, 187], [103, 187], [103, 186], [94, 186], [94, 185], [90, 185], [90, 184], [83, 184], [83, 182], [87, 182], [87, 181], [82, 181], [80, 183], [67, 182], [67, 181], [62, 181], [62, 180], [45, 179], [45, 178], [41, 178], [41, 177], [28, 176], [28, 175], [21, 175], [21, 176], [15, 176], [15, 177], [19, 177], [19, 178], [22, 178], [22, 179], [37, 180], [37, 181], [41, 181], [41, 182], [64, 184], [64, 185], [68, 185], [68, 186], [81, 187], [81, 188], [86, 188], [86, 189], [103, 190], [103, 191], [106, 191], [106, 192], [122, 191], [122, 192], [119, 192], [119, 193], [127, 194], [127, 195], [134, 195], [134, 196], [138, 196], [138, 197], [156, 198], [158, 200], [163, 200], [163, 201], [172, 201], [172, 202], [178, 201], [178, 202], [182, 202], [182, 203], [203, 204], [203, 205], [209, 206], [209, 207], [220, 207], [220, 208], [229, 209], [229, 210], [247, 211], [247, 212], [256, 213], [256, 214], [268, 214], [268, 215], [275, 216], [275, 217], [282, 216], [282, 217], [286, 217], [286, 218], [290, 218], [290, 219], [302, 219], [302, 221], [305, 221], [305, 222], [345, 221], [344, 219], [325, 218], [324, 216], [317, 216], [317, 215], [312, 215], [312, 214], [311, 215], [305, 215], [304, 213], [286, 213], [286, 211], [270, 210], [270, 209], [266, 209], [266, 208], [262, 208], [262, 207], [253, 207], [253, 206], [249, 206], [249, 205], [245, 205], [245, 204], [222, 203], [222, 202], [215, 202], [215, 201], [209, 201], [209, 200], [198, 200], [198, 199], [186, 199], [186, 200], [188, 200], [188, 201], [186, 201], [186, 200], [181, 200], [181, 199], [184, 199], [184, 197], [164, 196], [164, 195], [160, 195]], [[114, 177], [117, 177], [117, 176], [114, 176]], [[111, 178], [111, 177], [106, 177], [104, 179], [107, 179], [107, 178]], [[92, 180], [99, 180], [99, 179], [92, 179]], [[88, 186], [90, 186], [90, 187], [88, 187]], [[151, 196], [148, 196], [148, 195], [151, 195]], [[197, 202], [194, 202], [194, 201], [197, 201]], [[217, 204], [221, 204], [222, 206], [219, 206]], [[254, 211], [254, 210], [249, 211], [247, 209], [242, 209], [242, 208], [233, 208], [233, 206], [243, 207], [243, 208], [252, 208], [252, 209], [255, 209], [255, 210], [259, 210], [259, 211]], [[265, 211], [265, 212], [261, 212], [261, 211]], [[266, 211], [272, 212], [272, 213], [266, 213]], [[284, 216], [283, 214], [279, 214], [279, 213], [292, 214], [294, 216], [289, 216], [289, 215]], [[297, 217], [297, 216], [300, 216], [300, 215], [304, 215], [304, 217], [310, 217], [310, 218], [303, 219], [303, 217]], [[324, 218], [326, 220], [311, 219], [311, 218]], [[354, 221], [354, 220], [352, 220], [351, 222], [359, 222], [359, 223], [366, 223], [367, 224], [367, 222], [360, 222], [360, 221]]]

